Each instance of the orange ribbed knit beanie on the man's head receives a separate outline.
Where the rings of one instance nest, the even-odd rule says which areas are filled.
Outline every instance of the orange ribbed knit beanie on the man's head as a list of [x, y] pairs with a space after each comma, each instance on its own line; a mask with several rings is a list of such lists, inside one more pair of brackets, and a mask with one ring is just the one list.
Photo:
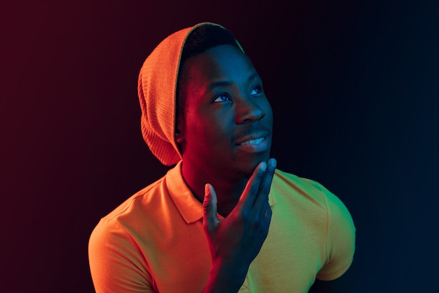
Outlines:
[[189, 34], [203, 25], [226, 30], [212, 22], [201, 22], [170, 34], [154, 48], [140, 69], [137, 93], [142, 108], [142, 135], [151, 152], [167, 166], [182, 159], [175, 141], [175, 119], [177, 77], [183, 46]]

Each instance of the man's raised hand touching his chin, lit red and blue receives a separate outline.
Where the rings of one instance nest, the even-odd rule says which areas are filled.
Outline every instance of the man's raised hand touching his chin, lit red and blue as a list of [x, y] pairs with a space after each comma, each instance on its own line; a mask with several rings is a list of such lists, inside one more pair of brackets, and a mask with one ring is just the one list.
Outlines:
[[[268, 195], [276, 159], [261, 162], [253, 171], [238, 204], [227, 218], [217, 218], [217, 196], [205, 185], [203, 228], [210, 246], [212, 268], [205, 292], [238, 292], [248, 267], [268, 235], [271, 207]], [[226, 287], [224, 287], [226, 286]]]

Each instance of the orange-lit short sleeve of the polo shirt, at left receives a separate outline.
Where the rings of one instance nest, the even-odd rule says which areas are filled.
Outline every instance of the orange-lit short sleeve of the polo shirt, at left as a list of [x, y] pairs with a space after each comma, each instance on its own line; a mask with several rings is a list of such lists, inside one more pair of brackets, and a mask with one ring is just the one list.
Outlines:
[[146, 263], [130, 235], [111, 219], [97, 224], [88, 242], [88, 260], [97, 293], [154, 292]]

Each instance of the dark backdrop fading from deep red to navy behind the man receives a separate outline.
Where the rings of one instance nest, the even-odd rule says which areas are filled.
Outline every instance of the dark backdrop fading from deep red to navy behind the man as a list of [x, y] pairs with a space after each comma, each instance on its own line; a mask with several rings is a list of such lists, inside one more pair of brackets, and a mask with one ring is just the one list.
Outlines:
[[278, 168], [350, 209], [360, 292], [430, 291], [439, 2], [357, 2], [1, 4], [0, 290], [93, 292], [91, 230], [168, 169], [142, 141], [140, 66], [168, 34], [211, 21], [262, 75]]

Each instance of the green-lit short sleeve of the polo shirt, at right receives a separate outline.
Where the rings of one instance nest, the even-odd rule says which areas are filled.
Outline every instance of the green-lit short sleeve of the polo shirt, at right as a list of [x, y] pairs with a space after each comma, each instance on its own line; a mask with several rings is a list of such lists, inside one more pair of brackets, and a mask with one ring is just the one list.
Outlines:
[[353, 261], [356, 228], [349, 210], [341, 200], [323, 186], [327, 204], [326, 259], [319, 280], [335, 280], [347, 271]]

